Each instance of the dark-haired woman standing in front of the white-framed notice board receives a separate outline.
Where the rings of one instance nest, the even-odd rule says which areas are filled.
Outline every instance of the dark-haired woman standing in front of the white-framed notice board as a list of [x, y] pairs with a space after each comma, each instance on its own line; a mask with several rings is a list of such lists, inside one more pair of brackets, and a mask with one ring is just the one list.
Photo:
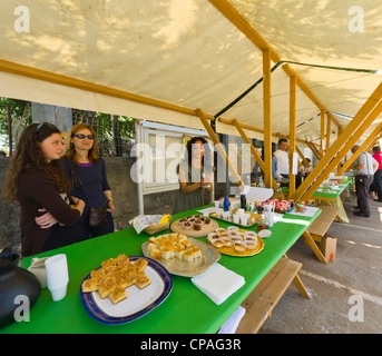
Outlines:
[[213, 177], [209, 146], [205, 138], [193, 137], [187, 142], [186, 158], [178, 166], [179, 191], [173, 214], [203, 206], [203, 189], [214, 189]]

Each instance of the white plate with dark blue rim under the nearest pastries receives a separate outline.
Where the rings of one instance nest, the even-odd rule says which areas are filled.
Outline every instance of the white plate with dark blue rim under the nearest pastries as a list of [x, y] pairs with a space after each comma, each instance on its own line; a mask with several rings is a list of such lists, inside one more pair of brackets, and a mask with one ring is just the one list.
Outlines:
[[[134, 298], [131, 300], [129, 296], [127, 297], [127, 299], [118, 303], [116, 307], [116, 306], [112, 306], [110, 300], [106, 300], [109, 298], [100, 299], [98, 291], [82, 293], [81, 287], [80, 287], [79, 295], [81, 298], [81, 303], [85, 307], [85, 310], [96, 322], [106, 324], [106, 325], [120, 325], [120, 324], [130, 323], [135, 319], [140, 318], [147, 313], [151, 312], [154, 308], [159, 306], [168, 297], [168, 295], [170, 294], [173, 289], [173, 279], [170, 277], [170, 274], [167, 271], [167, 269], [164, 266], [161, 266], [159, 263], [157, 263], [156, 260], [151, 258], [143, 257], [143, 256], [129, 256], [129, 260], [131, 261], [136, 261], [139, 258], [144, 258], [148, 261], [145, 273], [146, 275], [151, 274], [151, 278], [150, 276], [148, 276], [151, 280], [151, 285], [147, 286], [146, 288], [149, 288], [151, 286], [151, 289], [146, 289], [146, 288], [141, 290], [137, 289], [136, 296], [139, 296], [139, 294], [145, 294], [145, 296], [149, 299], [149, 301], [146, 304], [144, 303], [143, 305], [138, 305], [138, 310], [131, 312], [131, 309], [129, 308], [130, 307], [129, 304], [131, 304], [130, 301], [133, 301]], [[90, 278], [90, 274], [87, 275], [84, 278], [84, 280], [89, 279], [89, 278]], [[127, 288], [127, 290], [129, 288], [138, 288], [138, 287], [130, 286]], [[144, 291], [145, 289], [146, 291]], [[154, 290], [154, 291], [150, 291], [150, 290]], [[155, 293], [154, 300], [149, 298], [151, 293]], [[97, 294], [97, 296], [95, 294]], [[139, 298], [139, 300], [143, 300], [143, 298]], [[108, 307], [108, 304], [110, 305], [110, 309]], [[115, 315], [116, 313], [112, 312], [114, 307], [119, 308], [117, 313], [118, 315]], [[125, 313], [124, 307], [126, 307], [126, 313]]]

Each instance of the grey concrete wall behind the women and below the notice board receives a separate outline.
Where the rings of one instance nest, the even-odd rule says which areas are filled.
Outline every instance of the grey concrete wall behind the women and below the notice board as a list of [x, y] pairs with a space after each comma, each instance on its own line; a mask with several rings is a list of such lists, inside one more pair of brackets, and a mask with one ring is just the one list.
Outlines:
[[[135, 158], [104, 157], [107, 177], [111, 187], [116, 210], [115, 224], [128, 221], [138, 215], [137, 185], [130, 178]], [[0, 189], [9, 164], [9, 158], [0, 159]], [[223, 191], [223, 186], [219, 185]], [[144, 197], [145, 214], [172, 214], [177, 191], [151, 194]], [[216, 194], [221, 197], [222, 192]], [[207, 201], [207, 200], [205, 200]], [[0, 249], [13, 245], [20, 248], [20, 209], [18, 202], [8, 204], [0, 199]]]

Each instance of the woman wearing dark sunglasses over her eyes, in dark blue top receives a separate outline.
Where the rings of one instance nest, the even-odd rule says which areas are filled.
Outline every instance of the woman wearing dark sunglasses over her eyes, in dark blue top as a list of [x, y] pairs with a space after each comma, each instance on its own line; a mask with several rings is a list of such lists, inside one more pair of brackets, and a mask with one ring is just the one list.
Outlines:
[[[71, 182], [75, 197], [82, 199], [86, 207], [76, 224], [79, 241], [114, 231], [111, 211], [115, 209], [111, 190], [106, 177], [105, 160], [97, 155], [96, 132], [85, 123], [75, 125], [66, 139], [66, 154], [61, 161]], [[89, 210], [107, 208], [106, 222], [99, 227], [89, 226]]]

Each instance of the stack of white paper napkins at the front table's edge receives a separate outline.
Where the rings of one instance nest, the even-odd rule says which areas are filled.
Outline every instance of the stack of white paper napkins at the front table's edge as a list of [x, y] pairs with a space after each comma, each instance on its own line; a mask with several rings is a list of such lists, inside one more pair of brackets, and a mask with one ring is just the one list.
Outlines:
[[193, 277], [192, 283], [215, 304], [219, 305], [243, 287], [245, 279], [224, 266], [215, 264], [203, 275]]

